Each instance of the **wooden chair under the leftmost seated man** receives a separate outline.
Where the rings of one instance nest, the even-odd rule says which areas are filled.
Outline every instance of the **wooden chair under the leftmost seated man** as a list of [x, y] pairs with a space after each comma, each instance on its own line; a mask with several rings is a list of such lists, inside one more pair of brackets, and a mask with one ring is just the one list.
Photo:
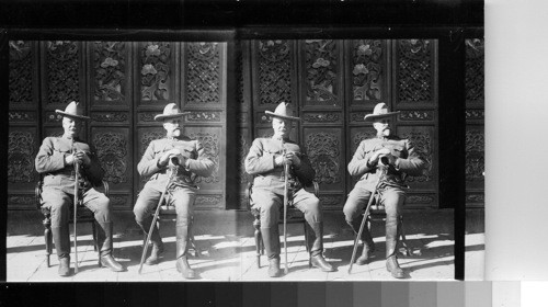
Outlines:
[[[50, 266], [49, 257], [52, 255], [52, 251], [53, 251], [52, 213], [49, 212], [49, 209], [42, 207], [43, 184], [44, 184], [44, 178], [41, 174], [39, 181], [36, 183], [36, 186], [34, 189], [34, 195], [36, 198], [36, 207], [44, 215], [44, 220], [42, 221], [42, 224], [44, 225], [44, 240], [46, 242], [47, 268], [49, 268]], [[104, 194], [106, 195], [106, 197], [109, 197], [109, 183], [104, 180], [103, 180], [103, 189], [104, 189]], [[73, 224], [75, 223], [73, 206], [70, 206], [70, 215], [69, 216], [70, 216], [69, 224]], [[78, 201], [77, 219], [78, 219], [78, 224], [82, 224], [82, 223], [90, 223], [91, 224], [92, 236], [93, 236], [93, 250], [99, 253], [100, 250], [99, 250], [99, 242], [98, 242], [98, 226], [95, 225], [95, 217], [93, 216], [93, 213], [89, 208], [83, 206], [81, 198]], [[101, 266], [101, 257], [98, 258], [98, 264], [99, 264], [99, 266]]]

